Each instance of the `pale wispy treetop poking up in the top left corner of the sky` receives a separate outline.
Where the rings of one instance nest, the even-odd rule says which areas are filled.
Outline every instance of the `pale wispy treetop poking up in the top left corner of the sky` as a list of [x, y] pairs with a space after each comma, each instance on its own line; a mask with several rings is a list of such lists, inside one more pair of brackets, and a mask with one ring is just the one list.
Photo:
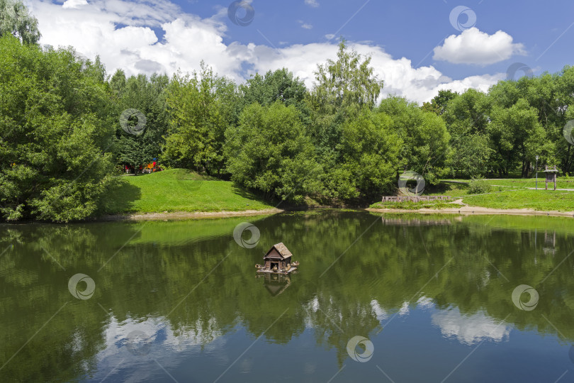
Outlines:
[[0, 37], [6, 34], [14, 35], [26, 44], [40, 40], [38, 20], [28, 13], [20, 0], [0, 0]]

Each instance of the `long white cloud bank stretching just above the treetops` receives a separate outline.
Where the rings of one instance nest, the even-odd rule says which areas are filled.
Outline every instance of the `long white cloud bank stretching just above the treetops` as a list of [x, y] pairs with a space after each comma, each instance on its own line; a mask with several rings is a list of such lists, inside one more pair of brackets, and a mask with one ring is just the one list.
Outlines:
[[[73, 4], [79, 4], [80, 0]], [[70, 3], [72, 4], [72, 3]], [[224, 43], [227, 31], [226, 9], [210, 18], [184, 13], [168, 0], [90, 0], [89, 4], [70, 8], [51, 1], [31, 0], [33, 13], [42, 31], [40, 43], [72, 46], [81, 55], [100, 55], [109, 74], [122, 69], [126, 74], [169, 75], [177, 70], [198, 70], [201, 60], [220, 75], [244, 82], [250, 74], [283, 67], [313, 87], [317, 64], [337, 58], [337, 43], [268, 45]], [[164, 30], [159, 40], [152, 28]], [[372, 43], [350, 43], [361, 55], [370, 55], [375, 73], [384, 80], [384, 94], [397, 94], [422, 103], [441, 89], [485, 91], [505, 74], [451, 79], [432, 66], [412, 66], [405, 57], [393, 58]]]

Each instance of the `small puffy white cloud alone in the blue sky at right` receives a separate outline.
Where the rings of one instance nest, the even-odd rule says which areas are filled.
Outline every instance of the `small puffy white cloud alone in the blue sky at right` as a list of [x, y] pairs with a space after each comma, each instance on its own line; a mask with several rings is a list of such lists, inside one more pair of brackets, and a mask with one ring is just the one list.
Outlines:
[[524, 45], [512, 41], [512, 36], [502, 30], [489, 35], [473, 27], [446, 38], [443, 45], [434, 48], [433, 58], [454, 64], [490, 65], [526, 53]]

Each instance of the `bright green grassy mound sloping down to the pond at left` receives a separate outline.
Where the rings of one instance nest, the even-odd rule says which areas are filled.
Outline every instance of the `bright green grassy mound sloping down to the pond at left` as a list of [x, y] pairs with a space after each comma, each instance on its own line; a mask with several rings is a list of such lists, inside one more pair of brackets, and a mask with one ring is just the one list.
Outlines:
[[119, 178], [120, 184], [106, 201], [106, 214], [274, 208], [271, 202], [238, 188], [233, 182], [202, 177], [183, 169]]

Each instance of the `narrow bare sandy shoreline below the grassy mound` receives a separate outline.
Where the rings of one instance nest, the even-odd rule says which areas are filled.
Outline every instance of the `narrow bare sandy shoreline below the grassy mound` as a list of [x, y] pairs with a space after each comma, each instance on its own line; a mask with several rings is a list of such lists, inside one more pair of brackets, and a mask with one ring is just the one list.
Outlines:
[[268, 214], [281, 213], [281, 209], [264, 209], [264, 210], [244, 210], [244, 211], [206, 211], [191, 212], [177, 211], [174, 213], [144, 213], [144, 214], [118, 214], [114, 216], [103, 216], [98, 221], [170, 221], [182, 219], [200, 219], [200, 218], [218, 218], [218, 217], [235, 217], [235, 216], [264, 216]]

